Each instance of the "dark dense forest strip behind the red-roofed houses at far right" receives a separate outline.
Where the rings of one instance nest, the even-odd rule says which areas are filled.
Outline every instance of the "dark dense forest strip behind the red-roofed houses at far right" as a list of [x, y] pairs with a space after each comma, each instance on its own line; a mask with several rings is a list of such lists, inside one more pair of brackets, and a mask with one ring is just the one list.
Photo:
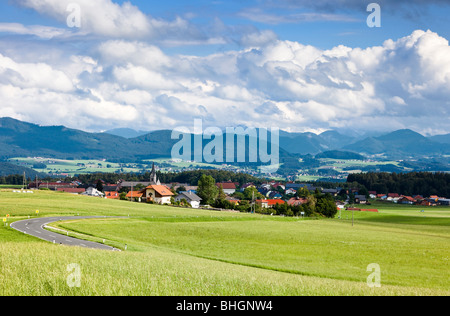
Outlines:
[[378, 194], [438, 195], [450, 197], [450, 174], [443, 172], [387, 173], [369, 172], [350, 174], [347, 182], [357, 182]]

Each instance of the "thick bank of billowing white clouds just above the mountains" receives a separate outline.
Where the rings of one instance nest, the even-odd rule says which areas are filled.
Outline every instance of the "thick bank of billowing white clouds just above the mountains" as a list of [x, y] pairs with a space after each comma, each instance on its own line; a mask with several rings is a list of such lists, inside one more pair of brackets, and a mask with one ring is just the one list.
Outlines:
[[67, 58], [54, 62], [40, 61], [39, 51], [36, 62], [30, 52], [28, 62], [17, 61], [20, 51], [5, 54], [0, 115], [42, 124], [148, 130], [203, 117], [209, 125], [291, 131], [450, 132], [450, 47], [430, 31], [366, 49], [324, 51], [276, 40], [203, 57], [169, 56], [141, 41], [108, 40], [90, 56], [64, 52]]

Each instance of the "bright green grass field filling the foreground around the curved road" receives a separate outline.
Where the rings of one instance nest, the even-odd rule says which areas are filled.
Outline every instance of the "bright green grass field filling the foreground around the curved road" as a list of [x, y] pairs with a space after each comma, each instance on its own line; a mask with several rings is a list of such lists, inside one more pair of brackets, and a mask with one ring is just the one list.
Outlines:
[[[0, 218], [110, 215], [59, 228], [127, 245], [70, 248], [0, 228], [0, 295], [449, 295], [450, 208], [375, 205], [303, 220], [186, 210], [62, 193], [0, 192]], [[425, 212], [421, 212], [425, 210]], [[67, 266], [81, 267], [79, 288]], [[381, 287], [370, 288], [378, 264]]]

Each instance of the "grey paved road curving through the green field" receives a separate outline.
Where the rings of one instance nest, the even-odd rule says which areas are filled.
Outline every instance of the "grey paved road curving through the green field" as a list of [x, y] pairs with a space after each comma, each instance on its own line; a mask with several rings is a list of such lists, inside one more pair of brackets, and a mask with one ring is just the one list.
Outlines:
[[76, 239], [57, 233], [45, 230], [44, 227], [54, 222], [59, 221], [70, 221], [77, 219], [94, 219], [94, 218], [105, 218], [105, 216], [73, 216], [73, 217], [46, 217], [46, 218], [33, 218], [27, 219], [19, 222], [14, 222], [11, 224], [11, 228], [22, 232], [27, 235], [37, 237], [39, 239], [49, 241], [55, 244], [61, 244], [66, 246], [78, 246], [92, 249], [110, 250], [110, 251], [120, 251], [119, 249], [99, 244], [92, 241], [85, 241], [81, 239]]

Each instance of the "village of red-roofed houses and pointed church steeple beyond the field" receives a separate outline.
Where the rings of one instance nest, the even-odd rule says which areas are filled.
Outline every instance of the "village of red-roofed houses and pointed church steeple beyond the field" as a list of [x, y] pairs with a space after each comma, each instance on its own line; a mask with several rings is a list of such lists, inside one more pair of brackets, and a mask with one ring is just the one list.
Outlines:
[[[341, 184], [342, 185], [342, 184]], [[420, 206], [448, 206], [450, 199], [431, 196], [406, 196], [398, 193], [378, 193], [361, 188], [346, 188], [337, 184], [334, 188], [322, 188], [311, 183], [295, 183], [281, 181], [266, 181], [262, 184], [227, 181], [215, 183], [219, 190], [219, 198], [226, 201], [220, 206], [221, 209], [245, 210], [239, 206], [252, 206], [261, 209], [277, 208], [280, 205], [297, 207], [308, 204], [310, 195], [322, 195], [332, 199], [338, 210], [354, 209], [355, 206], [365, 207], [373, 201], [385, 203], [420, 205]], [[158, 179], [156, 168], [153, 165], [148, 182], [119, 181], [118, 183], [105, 183], [99, 179], [95, 184], [85, 184], [79, 181], [65, 183], [30, 182], [30, 190], [53, 190], [70, 194], [99, 197], [105, 199], [128, 200], [138, 203], [151, 203], [160, 205], [185, 206], [191, 208], [213, 207], [207, 205], [198, 194], [198, 185], [189, 183], [167, 183], [163, 184]], [[306, 193], [305, 193], [306, 192]]]

